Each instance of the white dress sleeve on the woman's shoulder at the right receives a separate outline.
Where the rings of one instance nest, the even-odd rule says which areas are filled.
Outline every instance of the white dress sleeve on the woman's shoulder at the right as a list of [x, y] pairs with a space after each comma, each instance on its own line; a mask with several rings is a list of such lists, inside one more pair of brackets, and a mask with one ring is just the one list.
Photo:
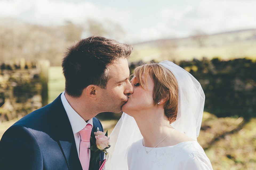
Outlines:
[[191, 153], [185, 160], [183, 170], [213, 170], [209, 158], [201, 151]]

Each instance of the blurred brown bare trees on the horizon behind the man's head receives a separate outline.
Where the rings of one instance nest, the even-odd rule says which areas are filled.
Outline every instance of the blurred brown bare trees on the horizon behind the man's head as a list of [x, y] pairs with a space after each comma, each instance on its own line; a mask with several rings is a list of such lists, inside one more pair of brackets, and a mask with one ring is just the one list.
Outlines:
[[27, 61], [48, 59], [51, 65], [59, 66], [63, 51], [74, 41], [86, 36], [100, 35], [121, 39], [122, 27], [112, 21], [87, 20], [84, 25], [66, 21], [59, 26], [41, 26], [17, 20], [8, 24], [0, 22], [0, 62], [24, 58]]

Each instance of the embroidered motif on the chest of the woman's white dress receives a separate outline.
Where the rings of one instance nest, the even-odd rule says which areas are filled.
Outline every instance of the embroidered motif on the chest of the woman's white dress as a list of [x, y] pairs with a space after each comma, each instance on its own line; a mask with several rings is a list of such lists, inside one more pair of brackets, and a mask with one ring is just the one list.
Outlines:
[[[160, 168], [166, 168], [166, 165], [169, 164], [173, 157], [175, 156], [173, 149], [162, 149], [162, 150], [156, 150], [155, 151], [155, 161], [152, 161], [153, 163], [157, 163], [158, 167]], [[179, 150], [178, 150], [179, 151]]]

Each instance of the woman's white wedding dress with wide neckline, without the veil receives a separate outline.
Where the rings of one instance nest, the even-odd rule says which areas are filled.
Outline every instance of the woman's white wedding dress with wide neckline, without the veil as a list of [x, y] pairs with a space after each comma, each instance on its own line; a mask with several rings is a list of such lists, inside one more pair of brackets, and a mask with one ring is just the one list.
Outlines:
[[[152, 148], [146, 147], [147, 151]], [[174, 146], [156, 147], [148, 154], [142, 139], [128, 151], [129, 170], [212, 170], [210, 160], [197, 141], [181, 142]]]

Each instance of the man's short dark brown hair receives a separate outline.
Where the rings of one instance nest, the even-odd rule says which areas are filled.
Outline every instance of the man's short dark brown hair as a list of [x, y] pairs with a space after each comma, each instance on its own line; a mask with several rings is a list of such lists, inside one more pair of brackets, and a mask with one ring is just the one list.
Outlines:
[[88, 85], [106, 89], [110, 78], [108, 66], [118, 59], [128, 59], [133, 48], [116, 40], [90, 36], [67, 48], [62, 60], [65, 92], [80, 97]]

